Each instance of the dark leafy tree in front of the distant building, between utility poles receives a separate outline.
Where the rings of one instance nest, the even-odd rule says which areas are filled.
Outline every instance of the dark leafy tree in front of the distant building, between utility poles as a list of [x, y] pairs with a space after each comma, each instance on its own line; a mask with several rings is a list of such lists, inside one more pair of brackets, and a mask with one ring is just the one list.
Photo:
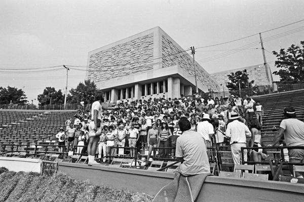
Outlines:
[[247, 74], [247, 70], [237, 71], [235, 73], [231, 73], [227, 75], [230, 82], [227, 82], [226, 87], [229, 90], [239, 90], [239, 84], [241, 89], [252, 87], [254, 80], [249, 81], [249, 75]]

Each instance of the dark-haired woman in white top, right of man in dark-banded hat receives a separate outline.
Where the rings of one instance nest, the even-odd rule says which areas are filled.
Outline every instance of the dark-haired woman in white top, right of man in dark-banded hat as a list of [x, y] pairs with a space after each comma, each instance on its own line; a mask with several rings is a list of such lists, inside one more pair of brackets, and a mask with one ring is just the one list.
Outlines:
[[250, 147], [255, 147], [251, 150], [252, 161], [261, 162], [262, 161], [262, 149], [261, 147], [261, 126], [256, 119], [252, 119], [250, 122], [251, 130], [251, 145]]

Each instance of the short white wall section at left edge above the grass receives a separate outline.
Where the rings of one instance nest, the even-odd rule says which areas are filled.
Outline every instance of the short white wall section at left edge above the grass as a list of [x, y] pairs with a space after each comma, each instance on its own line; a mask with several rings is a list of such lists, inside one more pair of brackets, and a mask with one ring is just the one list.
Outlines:
[[37, 172], [41, 171], [40, 159], [25, 159], [15, 157], [0, 157], [0, 167], [5, 167], [10, 171]]

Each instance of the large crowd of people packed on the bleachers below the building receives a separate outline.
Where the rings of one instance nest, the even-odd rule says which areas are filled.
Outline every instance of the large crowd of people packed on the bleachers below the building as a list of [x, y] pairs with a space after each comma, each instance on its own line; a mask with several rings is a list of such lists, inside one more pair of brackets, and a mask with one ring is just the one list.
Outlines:
[[[134, 157], [142, 150], [148, 150], [147, 160], [151, 157], [154, 148], [158, 149], [158, 158], [175, 158], [176, 140], [181, 135], [178, 122], [185, 117], [191, 123], [191, 130], [199, 132], [204, 138], [207, 147], [212, 144], [223, 145], [226, 136], [227, 123], [234, 120], [232, 116], [238, 115], [244, 125], [261, 125], [263, 107], [257, 102], [256, 111], [253, 109], [254, 100], [246, 95], [243, 100], [238, 94], [230, 97], [184, 97], [171, 99], [162, 97], [138, 99], [133, 102], [121, 102], [115, 107], [105, 105], [97, 109], [94, 117], [94, 104], [92, 111], [78, 111], [73, 118], [65, 122], [66, 128], [60, 129], [56, 135], [59, 140], [60, 151], [63, 150], [64, 140], [67, 138], [66, 148], [77, 154], [86, 154], [90, 142], [90, 123], [96, 120], [100, 127], [95, 127], [98, 133], [96, 153], [98, 158], [114, 155], [130, 155]], [[97, 132], [97, 129], [100, 131]], [[90, 146], [89, 146], [90, 147]], [[95, 150], [95, 145], [93, 146]], [[113, 148], [111, 148], [113, 147]], [[122, 147], [122, 148], [119, 148]], [[135, 149], [124, 149], [134, 147]], [[93, 154], [92, 154], [93, 155]], [[94, 155], [95, 156], [95, 155]], [[208, 149], [210, 158], [210, 149]], [[103, 159], [105, 161], [105, 159]]]

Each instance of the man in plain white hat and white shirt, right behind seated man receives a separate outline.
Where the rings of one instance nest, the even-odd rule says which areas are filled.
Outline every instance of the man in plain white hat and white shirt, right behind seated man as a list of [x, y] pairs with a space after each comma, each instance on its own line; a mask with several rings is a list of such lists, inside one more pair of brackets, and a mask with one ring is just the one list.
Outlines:
[[[209, 114], [204, 114], [202, 122], [198, 123], [198, 133], [202, 135], [205, 140], [206, 148], [211, 146], [211, 138], [214, 135], [214, 128], [213, 125], [210, 123]], [[207, 155], [210, 159], [211, 152], [207, 149]]]

